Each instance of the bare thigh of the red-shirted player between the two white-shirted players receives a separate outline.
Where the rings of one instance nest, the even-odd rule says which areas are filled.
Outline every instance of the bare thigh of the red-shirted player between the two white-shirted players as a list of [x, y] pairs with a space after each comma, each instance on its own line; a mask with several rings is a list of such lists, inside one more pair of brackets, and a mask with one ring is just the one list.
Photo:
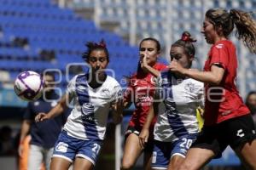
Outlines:
[[137, 160], [137, 157], [140, 156], [142, 151], [143, 151], [143, 147], [139, 143], [139, 138], [137, 134], [135, 133], [129, 134], [129, 136], [127, 136], [127, 139], [125, 141], [123, 163], [127, 161], [135, 163], [135, 161]]

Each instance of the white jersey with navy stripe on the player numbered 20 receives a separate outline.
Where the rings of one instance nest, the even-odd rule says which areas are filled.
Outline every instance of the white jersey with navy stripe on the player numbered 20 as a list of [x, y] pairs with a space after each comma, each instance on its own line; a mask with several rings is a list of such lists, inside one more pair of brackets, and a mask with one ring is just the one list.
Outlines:
[[177, 78], [163, 71], [157, 81], [156, 93], [162, 99], [154, 139], [175, 141], [191, 133], [198, 133], [196, 108], [204, 106], [204, 84], [191, 78]]

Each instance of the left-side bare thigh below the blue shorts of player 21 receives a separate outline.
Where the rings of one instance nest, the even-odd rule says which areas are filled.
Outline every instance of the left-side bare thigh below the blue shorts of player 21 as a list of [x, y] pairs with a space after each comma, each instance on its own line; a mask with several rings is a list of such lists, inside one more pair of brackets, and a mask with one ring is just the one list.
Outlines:
[[50, 161], [50, 170], [67, 170], [71, 165], [71, 161], [67, 161], [67, 159], [61, 157], [52, 157]]

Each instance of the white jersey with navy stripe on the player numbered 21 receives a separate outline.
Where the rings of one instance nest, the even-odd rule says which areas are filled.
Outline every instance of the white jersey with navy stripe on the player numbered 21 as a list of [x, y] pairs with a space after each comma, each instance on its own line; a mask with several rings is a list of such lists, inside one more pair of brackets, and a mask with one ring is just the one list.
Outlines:
[[85, 74], [73, 77], [67, 86], [73, 98], [73, 111], [64, 130], [77, 139], [104, 139], [111, 103], [122, 97], [122, 89], [113, 77], [99, 88], [91, 88]]

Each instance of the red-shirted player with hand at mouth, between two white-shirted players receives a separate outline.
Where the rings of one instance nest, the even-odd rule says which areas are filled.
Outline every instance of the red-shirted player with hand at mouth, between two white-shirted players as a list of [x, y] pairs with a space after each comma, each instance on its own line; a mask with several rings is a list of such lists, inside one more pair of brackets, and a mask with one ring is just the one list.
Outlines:
[[129, 86], [125, 91], [124, 105], [134, 103], [136, 110], [131, 116], [131, 121], [125, 133], [125, 150], [122, 160], [121, 170], [131, 169], [137, 158], [144, 151], [144, 169], [150, 169], [151, 156], [153, 150], [153, 129], [154, 122], [151, 124], [151, 139], [147, 146], [140, 145], [138, 135], [143, 128], [143, 124], [148, 116], [149, 107], [154, 95], [154, 77], [160, 75], [160, 71], [166, 65], [157, 62], [160, 55], [160, 42], [152, 37], [142, 40], [139, 45], [140, 61], [137, 73], [132, 75]]

